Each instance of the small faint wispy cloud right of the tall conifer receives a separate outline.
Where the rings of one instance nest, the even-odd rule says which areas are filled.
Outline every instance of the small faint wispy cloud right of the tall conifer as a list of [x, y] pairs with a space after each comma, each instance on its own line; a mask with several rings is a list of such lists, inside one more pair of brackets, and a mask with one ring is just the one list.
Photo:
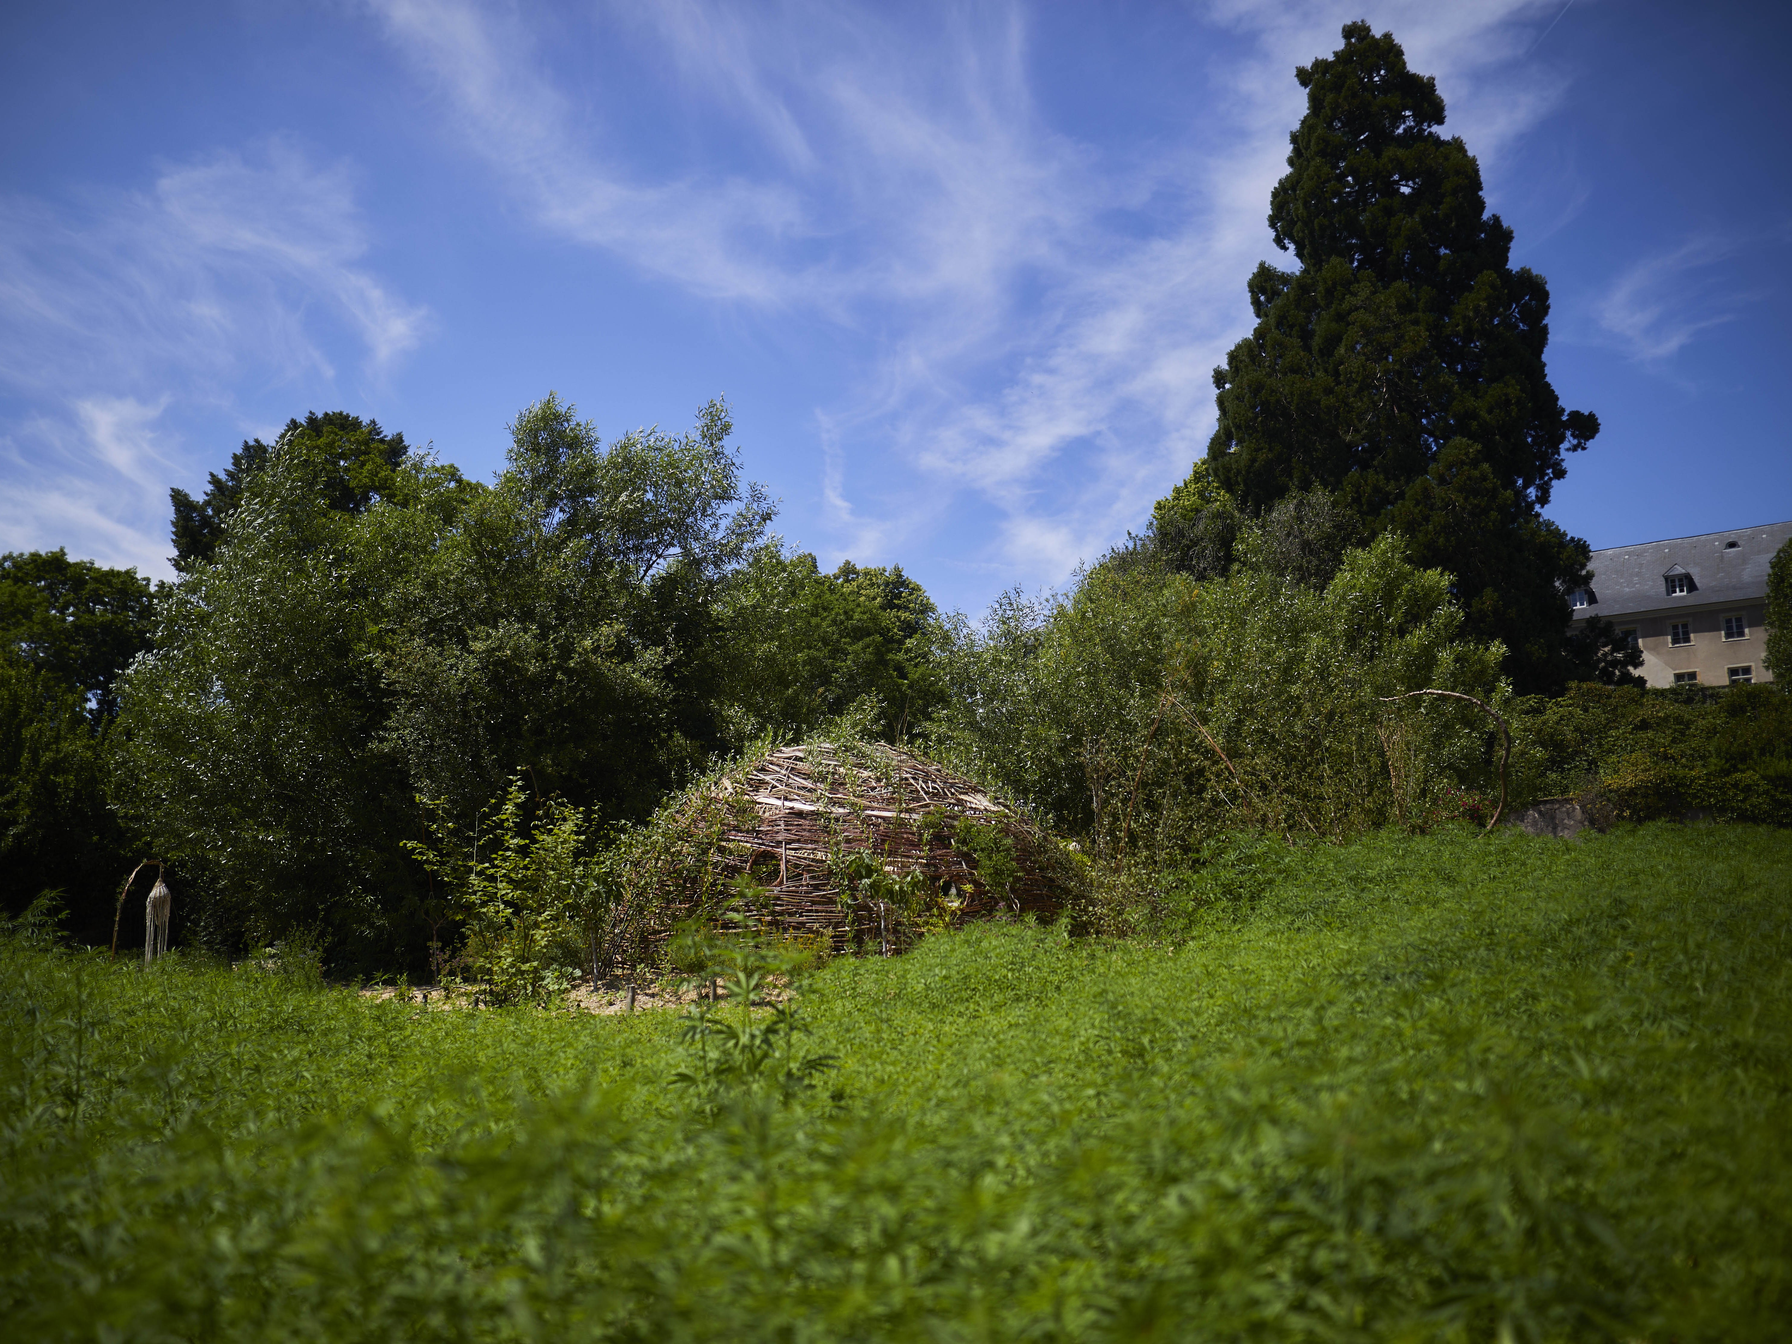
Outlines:
[[1735, 321], [1749, 301], [1717, 271], [1740, 249], [1736, 238], [1701, 235], [1645, 256], [1618, 274], [1593, 314], [1631, 358], [1672, 358], [1701, 332]]

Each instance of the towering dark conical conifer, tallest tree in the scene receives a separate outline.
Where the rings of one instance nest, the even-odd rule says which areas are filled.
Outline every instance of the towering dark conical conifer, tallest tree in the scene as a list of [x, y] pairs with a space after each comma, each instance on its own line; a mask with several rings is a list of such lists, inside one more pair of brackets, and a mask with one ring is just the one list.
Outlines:
[[1349, 23], [1296, 77], [1306, 116], [1269, 222], [1299, 269], [1251, 276], [1256, 328], [1213, 371], [1213, 478], [1253, 514], [1321, 487], [1367, 536], [1398, 529], [1520, 688], [1554, 688], [1588, 547], [1541, 509], [1598, 419], [1550, 387], [1548, 287], [1511, 267], [1512, 231], [1392, 34]]

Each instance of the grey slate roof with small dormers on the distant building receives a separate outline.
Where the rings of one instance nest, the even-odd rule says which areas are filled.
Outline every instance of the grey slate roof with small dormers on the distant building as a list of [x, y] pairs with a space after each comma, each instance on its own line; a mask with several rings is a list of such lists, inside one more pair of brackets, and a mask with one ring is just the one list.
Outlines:
[[[1595, 550], [1588, 563], [1593, 590], [1588, 604], [1575, 607], [1575, 616], [1760, 602], [1767, 595], [1767, 564], [1788, 538], [1792, 521]], [[1693, 590], [1670, 597], [1668, 573], [1690, 573]]]

